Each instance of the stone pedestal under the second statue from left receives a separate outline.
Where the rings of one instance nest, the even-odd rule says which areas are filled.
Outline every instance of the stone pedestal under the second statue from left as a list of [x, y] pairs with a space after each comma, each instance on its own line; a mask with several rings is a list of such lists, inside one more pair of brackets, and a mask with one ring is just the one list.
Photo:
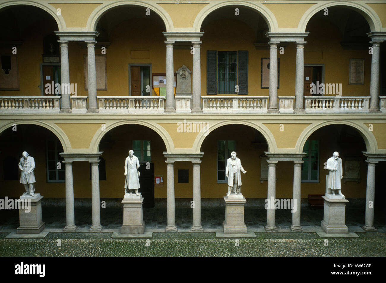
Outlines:
[[121, 234], [143, 234], [145, 232], [145, 222], [143, 218], [141, 193], [139, 196], [125, 194], [122, 200], [123, 206], [123, 225]]

